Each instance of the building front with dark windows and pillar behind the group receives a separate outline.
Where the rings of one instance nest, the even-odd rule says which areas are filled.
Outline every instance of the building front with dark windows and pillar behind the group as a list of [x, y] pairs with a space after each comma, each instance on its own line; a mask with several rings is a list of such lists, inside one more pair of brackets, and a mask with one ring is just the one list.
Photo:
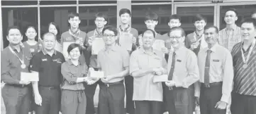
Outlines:
[[[194, 31], [193, 18], [196, 14], [206, 16], [207, 25], [216, 25], [223, 29], [226, 27], [223, 20], [225, 11], [228, 8], [236, 8], [238, 11], [237, 24], [240, 26], [240, 20], [250, 17], [250, 13], [256, 10], [256, 1], [254, 0], [223, 0], [215, 1], [1, 1], [1, 49], [8, 46], [6, 39], [6, 29], [11, 25], [16, 25], [23, 31], [28, 25], [33, 25], [38, 29], [38, 37], [48, 31], [48, 24], [55, 22], [60, 26], [60, 32], [69, 29], [67, 15], [70, 12], [77, 12], [80, 15], [80, 29], [84, 32], [94, 30], [94, 15], [97, 12], [108, 15], [107, 25], [119, 25], [118, 11], [121, 8], [129, 8], [132, 12], [131, 25], [139, 33], [146, 27], [144, 16], [146, 11], [154, 11], [159, 15], [156, 31], [165, 34], [169, 30], [169, 15], [179, 14], [182, 17], [182, 28], [187, 34]], [[26, 40], [26, 37], [23, 37]]]

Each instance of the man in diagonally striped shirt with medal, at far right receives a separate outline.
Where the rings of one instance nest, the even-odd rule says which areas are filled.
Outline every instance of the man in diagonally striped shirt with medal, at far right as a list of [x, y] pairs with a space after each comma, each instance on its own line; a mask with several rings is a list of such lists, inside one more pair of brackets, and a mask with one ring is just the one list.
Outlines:
[[241, 25], [243, 42], [235, 44], [231, 54], [234, 67], [232, 114], [256, 113], [256, 20], [246, 18]]

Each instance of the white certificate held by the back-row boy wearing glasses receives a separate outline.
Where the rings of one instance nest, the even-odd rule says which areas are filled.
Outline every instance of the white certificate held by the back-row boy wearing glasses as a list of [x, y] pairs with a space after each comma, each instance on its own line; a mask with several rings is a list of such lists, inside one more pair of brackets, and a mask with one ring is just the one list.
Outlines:
[[105, 42], [102, 38], [95, 38], [92, 42], [92, 46], [91, 46], [91, 54], [92, 55], [98, 55], [99, 51], [101, 51], [101, 49], [105, 48]]

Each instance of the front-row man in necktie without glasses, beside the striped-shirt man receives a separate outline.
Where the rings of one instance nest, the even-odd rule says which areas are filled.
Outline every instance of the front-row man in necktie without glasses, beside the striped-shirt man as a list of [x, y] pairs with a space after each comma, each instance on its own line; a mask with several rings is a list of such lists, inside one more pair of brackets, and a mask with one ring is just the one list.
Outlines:
[[[218, 27], [204, 30], [208, 47], [199, 51], [199, 82], [195, 85], [196, 105], [201, 114], [226, 114], [232, 91], [233, 62], [231, 53], [218, 42]], [[199, 99], [200, 96], [200, 99]]]

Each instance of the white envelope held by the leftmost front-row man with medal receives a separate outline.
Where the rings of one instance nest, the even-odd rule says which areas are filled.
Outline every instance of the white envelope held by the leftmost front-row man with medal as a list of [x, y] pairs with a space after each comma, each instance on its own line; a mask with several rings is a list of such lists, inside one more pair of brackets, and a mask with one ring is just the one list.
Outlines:
[[23, 81], [39, 81], [38, 72], [21, 72], [21, 80], [23, 80]]

